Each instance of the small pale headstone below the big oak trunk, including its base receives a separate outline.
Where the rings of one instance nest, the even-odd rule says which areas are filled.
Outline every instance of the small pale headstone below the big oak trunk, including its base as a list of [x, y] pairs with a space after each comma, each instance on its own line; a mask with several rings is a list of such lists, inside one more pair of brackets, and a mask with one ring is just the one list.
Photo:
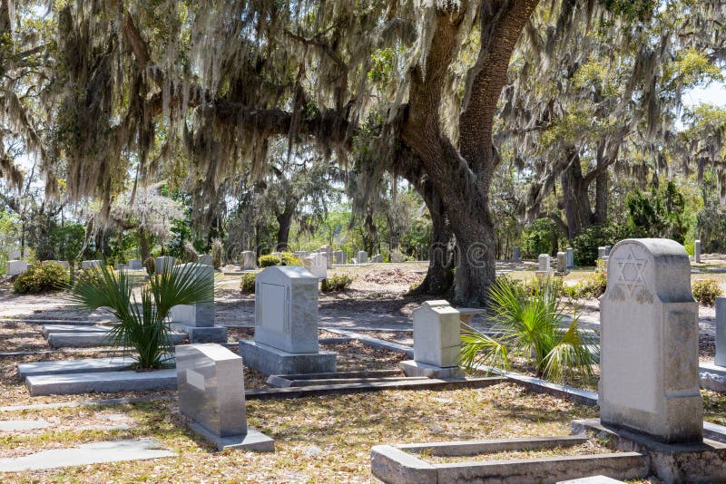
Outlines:
[[461, 315], [447, 301], [427, 301], [413, 312], [414, 359], [401, 362], [407, 376], [464, 376], [459, 367]]

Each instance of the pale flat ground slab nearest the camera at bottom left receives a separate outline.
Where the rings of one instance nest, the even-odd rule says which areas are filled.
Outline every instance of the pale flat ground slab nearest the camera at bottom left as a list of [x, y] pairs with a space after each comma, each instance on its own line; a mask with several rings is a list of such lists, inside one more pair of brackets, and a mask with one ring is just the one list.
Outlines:
[[0, 459], [0, 472], [54, 469], [174, 456], [176, 456], [174, 452], [162, 450], [159, 442], [154, 439], [102, 441], [79, 445], [72, 449], [43, 450], [23, 457]]

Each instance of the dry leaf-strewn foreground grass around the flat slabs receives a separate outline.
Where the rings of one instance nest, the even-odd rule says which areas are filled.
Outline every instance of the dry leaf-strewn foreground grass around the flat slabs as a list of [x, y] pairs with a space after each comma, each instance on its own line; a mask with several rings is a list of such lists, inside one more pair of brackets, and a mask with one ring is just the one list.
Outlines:
[[[704, 397], [706, 420], [726, 423], [726, 396], [704, 392]], [[112, 421], [109, 414], [113, 415]], [[593, 418], [598, 412], [504, 383], [479, 390], [252, 400], [247, 402], [247, 414], [251, 427], [275, 439], [276, 452], [215, 453], [204, 440], [186, 430], [185, 418], [179, 414], [175, 400], [5, 411], [0, 417], [3, 420], [44, 419], [52, 426], [3, 432], [0, 458], [91, 441], [142, 437], [153, 437], [164, 449], [179, 455], [0, 474], [0, 481], [370, 482], [375, 479], [370, 474], [369, 452], [377, 444], [566, 435], [570, 421]], [[102, 430], [103, 424], [119, 422], [130, 428]], [[564, 454], [571, 450], [561, 451]]]

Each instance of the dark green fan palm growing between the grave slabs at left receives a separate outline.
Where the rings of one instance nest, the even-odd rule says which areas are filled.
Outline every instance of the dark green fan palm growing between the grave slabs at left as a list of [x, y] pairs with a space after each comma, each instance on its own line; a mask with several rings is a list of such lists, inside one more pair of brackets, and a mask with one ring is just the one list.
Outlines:
[[132, 350], [140, 370], [160, 368], [172, 352], [171, 328], [166, 322], [174, 305], [211, 301], [213, 282], [197, 276], [197, 266], [162, 266], [141, 288], [141, 304], [125, 271], [100, 266], [80, 278], [74, 286], [74, 302], [87, 309], [108, 307], [118, 319], [109, 341]]

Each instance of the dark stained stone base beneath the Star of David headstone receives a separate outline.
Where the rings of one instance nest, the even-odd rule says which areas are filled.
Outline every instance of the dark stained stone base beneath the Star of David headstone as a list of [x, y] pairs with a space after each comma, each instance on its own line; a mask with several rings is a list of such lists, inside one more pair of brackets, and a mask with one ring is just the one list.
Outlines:
[[664, 482], [723, 482], [726, 444], [716, 440], [666, 444], [641, 433], [604, 427], [600, 419], [573, 421], [573, 433], [594, 434], [617, 450], [640, 452], [650, 461], [650, 475]]

